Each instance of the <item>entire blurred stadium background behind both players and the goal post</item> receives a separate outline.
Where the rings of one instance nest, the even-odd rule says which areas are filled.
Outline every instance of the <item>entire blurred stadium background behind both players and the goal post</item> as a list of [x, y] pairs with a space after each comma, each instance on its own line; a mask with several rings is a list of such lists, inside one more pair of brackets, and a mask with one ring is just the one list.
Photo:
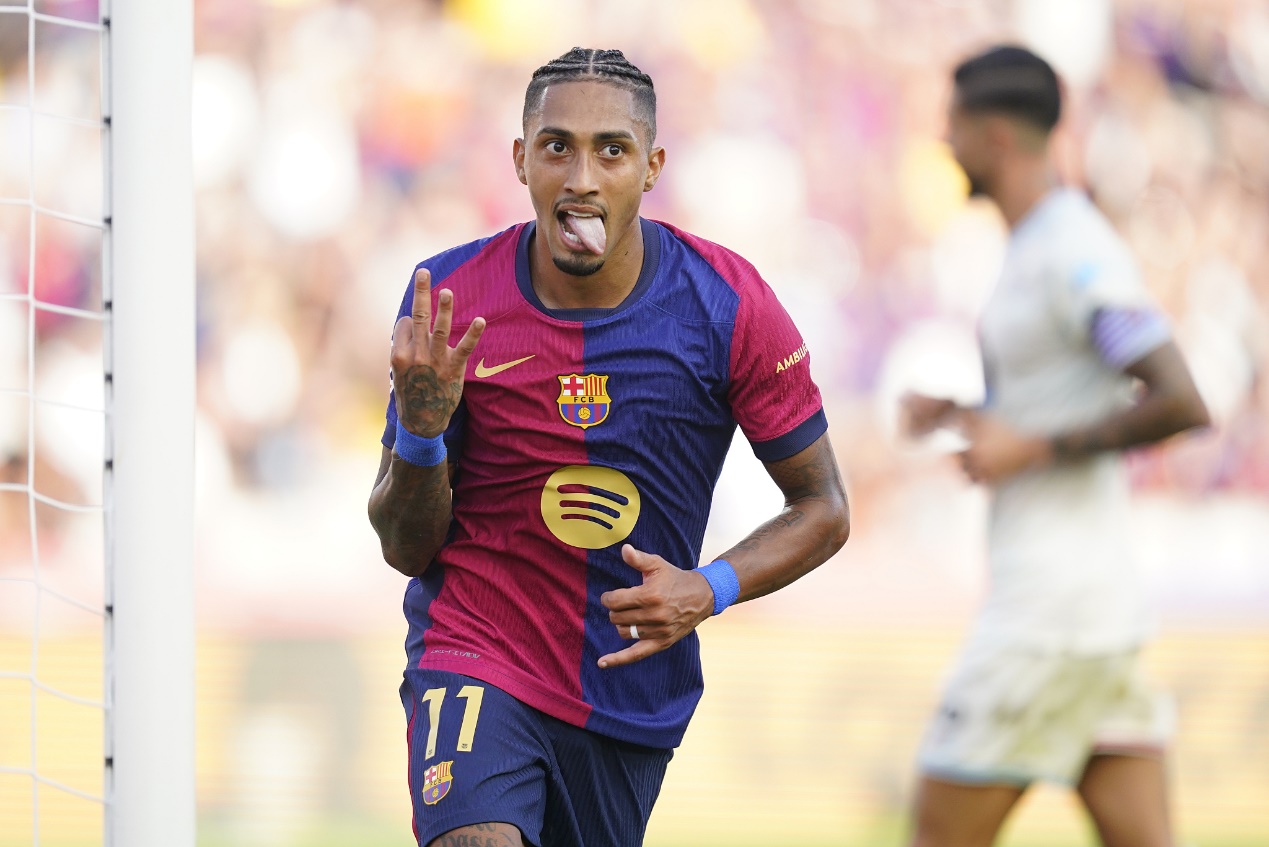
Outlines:
[[[901, 842], [920, 728], [983, 589], [985, 500], [939, 444], [896, 442], [893, 401], [981, 391], [973, 315], [1004, 232], [963, 201], [939, 137], [948, 70], [999, 39], [1065, 74], [1060, 169], [1137, 251], [1218, 420], [1133, 457], [1132, 531], [1160, 607], [1148, 662], [1180, 705], [1181, 841], [1269, 843], [1264, 3], [208, 0], [195, 17], [201, 844], [410, 843], [404, 580], [364, 517], [388, 333], [419, 259], [532, 215], [510, 141], [529, 74], [574, 44], [619, 47], [655, 79], [667, 165], [645, 213], [739, 248], [780, 293], [853, 504], [832, 561], [703, 629], [707, 693], [647, 843]], [[0, 37], [11, 88], [24, 47]], [[37, 85], [95, 97], [95, 55], [72, 38], [39, 50]], [[76, 143], [51, 179], [93, 179]], [[0, 180], [24, 166], [0, 157]], [[58, 232], [42, 234], [37, 273], [75, 305], [95, 254]], [[25, 290], [23, 250], [6, 239], [5, 291]], [[96, 378], [77, 325], [41, 320], [42, 378]], [[19, 430], [0, 425], [13, 477]], [[778, 508], [739, 447], [706, 555]], [[75, 458], [43, 444], [42, 479], [75, 491]], [[3, 570], [29, 540], [25, 507], [0, 507]], [[90, 537], [51, 522], [46, 569], [75, 579]], [[51, 672], [99, 674], [99, 625], [48, 624]], [[0, 659], [29, 651], [18, 621], [0, 630]], [[24, 721], [0, 696], [0, 758]], [[44, 766], [90, 780], [99, 724], [52, 725]], [[0, 792], [0, 844], [29, 843], [23, 814]], [[99, 843], [99, 820], [70, 811], [41, 843]], [[1004, 843], [1093, 841], [1043, 790]]]

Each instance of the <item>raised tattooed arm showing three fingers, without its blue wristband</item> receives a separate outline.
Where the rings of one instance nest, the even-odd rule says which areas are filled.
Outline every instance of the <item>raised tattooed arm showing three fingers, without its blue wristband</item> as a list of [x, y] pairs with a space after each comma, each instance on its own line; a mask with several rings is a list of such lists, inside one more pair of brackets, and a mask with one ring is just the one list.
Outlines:
[[[415, 272], [414, 306], [392, 331], [392, 392], [398, 429], [419, 438], [438, 438], [449, 425], [463, 394], [463, 375], [476, 342], [485, 331], [477, 317], [449, 347], [454, 296], [442, 291], [431, 323], [431, 277]], [[406, 577], [418, 577], [431, 563], [449, 531], [449, 469], [444, 460], [423, 466], [406, 461], [396, 448], [383, 448], [371, 493], [371, 526], [379, 536], [383, 560]]]

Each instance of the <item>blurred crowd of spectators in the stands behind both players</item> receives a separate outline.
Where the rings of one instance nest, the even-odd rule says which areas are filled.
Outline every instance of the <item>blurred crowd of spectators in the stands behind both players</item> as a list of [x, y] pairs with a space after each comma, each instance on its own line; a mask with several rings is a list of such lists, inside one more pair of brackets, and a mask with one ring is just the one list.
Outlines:
[[[46, 6], [96, 14], [91, 0]], [[4, 103], [27, 102], [25, 27], [0, 15]], [[82, 38], [38, 28], [39, 110], [94, 117]], [[195, 3], [193, 75], [204, 519], [329, 484], [322, 469], [345, 460], [338, 479], [364, 499], [411, 268], [532, 216], [510, 165], [524, 86], [574, 44], [619, 47], [656, 81], [667, 165], [645, 215], [740, 249], [775, 287], [810, 342], [857, 509], [931, 508], [911, 491], [933, 465], [896, 442], [893, 401], [981, 391], [975, 314], [1005, 232], [966, 201], [940, 137], [950, 67], [999, 41], [1063, 75], [1056, 166], [1136, 250], [1218, 422], [1134, 457], [1138, 485], [1269, 494], [1260, 0], [216, 0]], [[46, 204], [91, 210], [95, 136], [57, 146], [49, 124], [23, 156], [15, 116], [0, 112], [5, 196], [33, 180]], [[32, 263], [27, 210], [0, 218], [0, 292], [25, 291], [34, 267], [42, 298], [98, 307], [94, 230], [42, 223]], [[24, 385], [23, 320], [0, 311], [0, 387]], [[93, 338], [82, 320], [37, 323], [37, 385], [94, 364], [76, 352]], [[23, 415], [3, 429], [0, 466], [20, 481]], [[81, 457], [66, 452], [49, 443], [39, 461], [74, 489]], [[865, 532], [897, 528], [858, 514]], [[336, 519], [364, 530], [359, 510]]]

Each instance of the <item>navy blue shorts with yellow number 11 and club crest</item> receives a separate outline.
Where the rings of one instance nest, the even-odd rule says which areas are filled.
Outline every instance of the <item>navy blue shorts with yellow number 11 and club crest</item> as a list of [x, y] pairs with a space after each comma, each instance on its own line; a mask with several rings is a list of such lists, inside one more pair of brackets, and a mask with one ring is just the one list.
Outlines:
[[410, 669], [401, 684], [414, 834], [510, 823], [537, 847], [638, 847], [674, 750], [556, 720], [489, 683]]

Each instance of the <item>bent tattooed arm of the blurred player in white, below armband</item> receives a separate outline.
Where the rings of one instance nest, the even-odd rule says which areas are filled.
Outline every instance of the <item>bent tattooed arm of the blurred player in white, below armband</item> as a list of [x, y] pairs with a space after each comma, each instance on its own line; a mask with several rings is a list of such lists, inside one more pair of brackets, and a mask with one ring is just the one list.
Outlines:
[[970, 448], [961, 464], [971, 479], [994, 483], [1028, 467], [1079, 461], [1095, 453], [1151, 444], [1211, 423], [1189, 368], [1173, 342], [1124, 368], [1141, 380], [1142, 394], [1131, 408], [1057, 436], [1025, 436], [990, 415], [962, 419]]

